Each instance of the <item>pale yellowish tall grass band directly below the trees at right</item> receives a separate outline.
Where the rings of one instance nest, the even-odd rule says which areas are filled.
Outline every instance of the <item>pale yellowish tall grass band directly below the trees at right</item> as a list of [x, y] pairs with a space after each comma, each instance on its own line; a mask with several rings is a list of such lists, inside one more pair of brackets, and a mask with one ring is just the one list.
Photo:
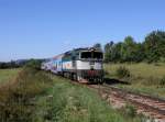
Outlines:
[[165, 64], [157, 63], [157, 64], [106, 64], [105, 69], [111, 75], [116, 76], [116, 70], [120, 67], [127, 67], [131, 75], [134, 77], [143, 77], [148, 78], [151, 76], [162, 78], [165, 76]]

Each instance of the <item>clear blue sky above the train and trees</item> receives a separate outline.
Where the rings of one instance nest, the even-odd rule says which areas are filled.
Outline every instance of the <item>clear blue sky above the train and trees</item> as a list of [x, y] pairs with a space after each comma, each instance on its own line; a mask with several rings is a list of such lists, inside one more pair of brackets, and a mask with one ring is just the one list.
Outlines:
[[165, 0], [0, 0], [0, 60], [46, 58], [76, 47], [143, 42], [165, 31]]

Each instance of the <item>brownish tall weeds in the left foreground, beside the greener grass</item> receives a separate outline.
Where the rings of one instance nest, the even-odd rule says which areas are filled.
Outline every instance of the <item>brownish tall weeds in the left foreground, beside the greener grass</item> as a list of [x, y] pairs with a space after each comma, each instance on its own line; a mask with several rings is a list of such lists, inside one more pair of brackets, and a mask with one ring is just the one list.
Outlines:
[[51, 85], [51, 79], [32, 68], [23, 68], [16, 78], [0, 87], [0, 121], [31, 122], [34, 99]]

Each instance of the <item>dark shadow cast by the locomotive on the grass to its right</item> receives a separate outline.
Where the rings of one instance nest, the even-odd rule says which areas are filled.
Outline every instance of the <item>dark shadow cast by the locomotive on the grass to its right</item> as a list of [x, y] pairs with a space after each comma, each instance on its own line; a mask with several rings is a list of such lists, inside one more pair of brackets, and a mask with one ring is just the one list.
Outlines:
[[123, 80], [116, 79], [116, 78], [105, 78], [105, 82], [107, 85], [131, 85], [128, 81], [123, 81]]

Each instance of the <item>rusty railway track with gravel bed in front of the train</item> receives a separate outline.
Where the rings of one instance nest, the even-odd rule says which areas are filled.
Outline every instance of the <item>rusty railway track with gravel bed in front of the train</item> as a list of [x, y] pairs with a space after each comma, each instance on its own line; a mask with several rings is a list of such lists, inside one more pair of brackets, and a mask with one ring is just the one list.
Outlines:
[[[80, 82], [74, 81], [73, 84]], [[98, 93], [114, 106], [114, 108], [122, 108], [127, 103], [131, 103], [136, 108], [138, 113], [154, 119], [156, 122], [165, 122], [165, 100], [163, 99], [131, 92], [109, 85], [80, 85], [97, 90]]]

